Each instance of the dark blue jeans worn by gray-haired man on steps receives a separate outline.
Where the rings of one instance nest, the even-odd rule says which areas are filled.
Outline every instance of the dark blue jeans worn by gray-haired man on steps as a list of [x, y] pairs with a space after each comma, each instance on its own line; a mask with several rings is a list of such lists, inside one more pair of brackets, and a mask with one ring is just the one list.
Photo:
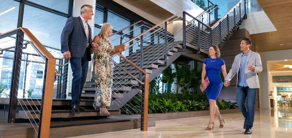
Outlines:
[[72, 88], [71, 88], [71, 105], [79, 105], [81, 100], [81, 92], [86, 81], [88, 70], [88, 58], [85, 52], [82, 58], [71, 57], [70, 64], [72, 69]]

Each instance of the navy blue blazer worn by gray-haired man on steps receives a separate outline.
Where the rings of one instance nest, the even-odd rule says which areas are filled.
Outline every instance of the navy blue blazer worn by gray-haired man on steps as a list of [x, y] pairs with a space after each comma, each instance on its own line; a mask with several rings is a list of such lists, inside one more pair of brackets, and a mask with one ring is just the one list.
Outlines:
[[[89, 49], [91, 49], [92, 35], [91, 28], [88, 25], [89, 30]], [[81, 58], [87, 52], [88, 61], [91, 60], [90, 50], [86, 51], [87, 47], [87, 37], [82, 23], [81, 18], [78, 17], [69, 17], [63, 31], [61, 33], [61, 52], [66, 51], [71, 52], [71, 57]]]

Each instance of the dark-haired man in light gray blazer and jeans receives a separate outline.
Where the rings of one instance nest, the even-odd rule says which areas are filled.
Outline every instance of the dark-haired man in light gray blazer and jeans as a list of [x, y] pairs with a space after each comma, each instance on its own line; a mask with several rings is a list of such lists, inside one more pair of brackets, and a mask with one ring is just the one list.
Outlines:
[[[235, 56], [232, 67], [227, 74], [224, 85], [229, 86], [230, 80], [237, 73], [236, 101], [238, 108], [245, 117], [243, 128], [245, 134], [252, 133], [254, 110], [256, 102], [256, 91], [260, 88], [259, 77], [256, 73], [263, 70], [260, 55], [249, 50], [251, 40], [244, 37], [241, 40], [240, 51], [242, 53]], [[247, 101], [247, 109], [245, 107]]]

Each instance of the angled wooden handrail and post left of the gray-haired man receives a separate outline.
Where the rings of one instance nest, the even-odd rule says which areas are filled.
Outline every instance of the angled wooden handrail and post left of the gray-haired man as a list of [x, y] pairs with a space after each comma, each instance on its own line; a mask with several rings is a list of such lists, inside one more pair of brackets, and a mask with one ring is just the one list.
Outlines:
[[43, 102], [43, 113], [41, 119], [41, 128], [40, 128], [40, 137], [49, 137], [50, 132], [50, 122], [51, 122], [51, 111], [52, 111], [52, 99], [53, 99], [53, 90], [54, 90], [54, 79], [55, 79], [55, 67], [56, 59], [54, 56], [36, 39], [36, 37], [26, 28], [19, 27], [12, 31], [1, 34], [0, 36], [15, 32], [17, 30], [22, 30], [24, 34], [35, 44], [39, 51], [47, 58], [47, 74], [46, 74], [46, 83], [43, 86], [45, 89]]

